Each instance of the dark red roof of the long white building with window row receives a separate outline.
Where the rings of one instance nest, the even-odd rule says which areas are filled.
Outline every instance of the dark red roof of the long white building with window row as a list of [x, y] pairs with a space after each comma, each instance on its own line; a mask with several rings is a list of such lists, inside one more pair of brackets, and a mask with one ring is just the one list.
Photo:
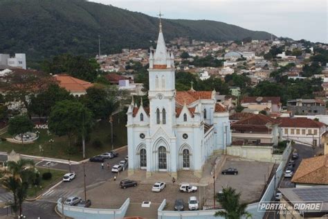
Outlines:
[[321, 128], [325, 126], [325, 123], [320, 123], [312, 119], [301, 118], [301, 117], [280, 117], [277, 118], [280, 121], [280, 127], [295, 127], [295, 128]]

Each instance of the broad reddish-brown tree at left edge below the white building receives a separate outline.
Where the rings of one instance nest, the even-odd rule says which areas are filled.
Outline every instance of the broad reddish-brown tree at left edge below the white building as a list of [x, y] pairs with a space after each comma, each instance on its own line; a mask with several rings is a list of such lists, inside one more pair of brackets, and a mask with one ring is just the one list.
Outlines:
[[5, 91], [8, 101], [20, 102], [23, 107], [28, 109], [30, 97], [38, 94], [54, 82], [55, 80], [49, 74], [42, 71], [14, 70], [3, 77], [0, 82], [0, 89]]

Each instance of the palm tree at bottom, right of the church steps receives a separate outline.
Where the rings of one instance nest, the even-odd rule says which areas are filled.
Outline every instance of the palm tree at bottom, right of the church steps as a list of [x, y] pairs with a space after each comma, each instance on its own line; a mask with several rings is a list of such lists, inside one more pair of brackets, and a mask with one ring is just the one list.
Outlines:
[[223, 193], [217, 193], [217, 202], [221, 204], [224, 211], [215, 212], [215, 216], [221, 216], [226, 219], [239, 219], [242, 216], [252, 218], [251, 214], [246, 211], [247, 204], [240, 203], [240, 193], [231, 187], [223, 188]]

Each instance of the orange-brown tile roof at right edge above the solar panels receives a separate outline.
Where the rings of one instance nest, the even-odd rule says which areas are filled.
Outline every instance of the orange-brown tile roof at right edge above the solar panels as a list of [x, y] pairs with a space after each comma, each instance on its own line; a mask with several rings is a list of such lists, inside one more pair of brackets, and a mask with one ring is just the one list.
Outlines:
[[328, 155], [302, 159], [291, 182], [328, 185]]

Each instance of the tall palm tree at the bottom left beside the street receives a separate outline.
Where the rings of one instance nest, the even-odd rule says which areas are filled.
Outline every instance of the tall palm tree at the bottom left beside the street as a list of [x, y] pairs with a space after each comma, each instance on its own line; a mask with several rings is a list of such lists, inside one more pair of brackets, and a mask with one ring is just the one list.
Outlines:
[[3, 188], [11, 191], [13, 195], [12, 210], [21, 215], [23, 202], [27, 196], [28, 185], [35, 179], [34, 161], [19, 159], [19, 161], [7, 162], [8, 173], [1, 180]]

